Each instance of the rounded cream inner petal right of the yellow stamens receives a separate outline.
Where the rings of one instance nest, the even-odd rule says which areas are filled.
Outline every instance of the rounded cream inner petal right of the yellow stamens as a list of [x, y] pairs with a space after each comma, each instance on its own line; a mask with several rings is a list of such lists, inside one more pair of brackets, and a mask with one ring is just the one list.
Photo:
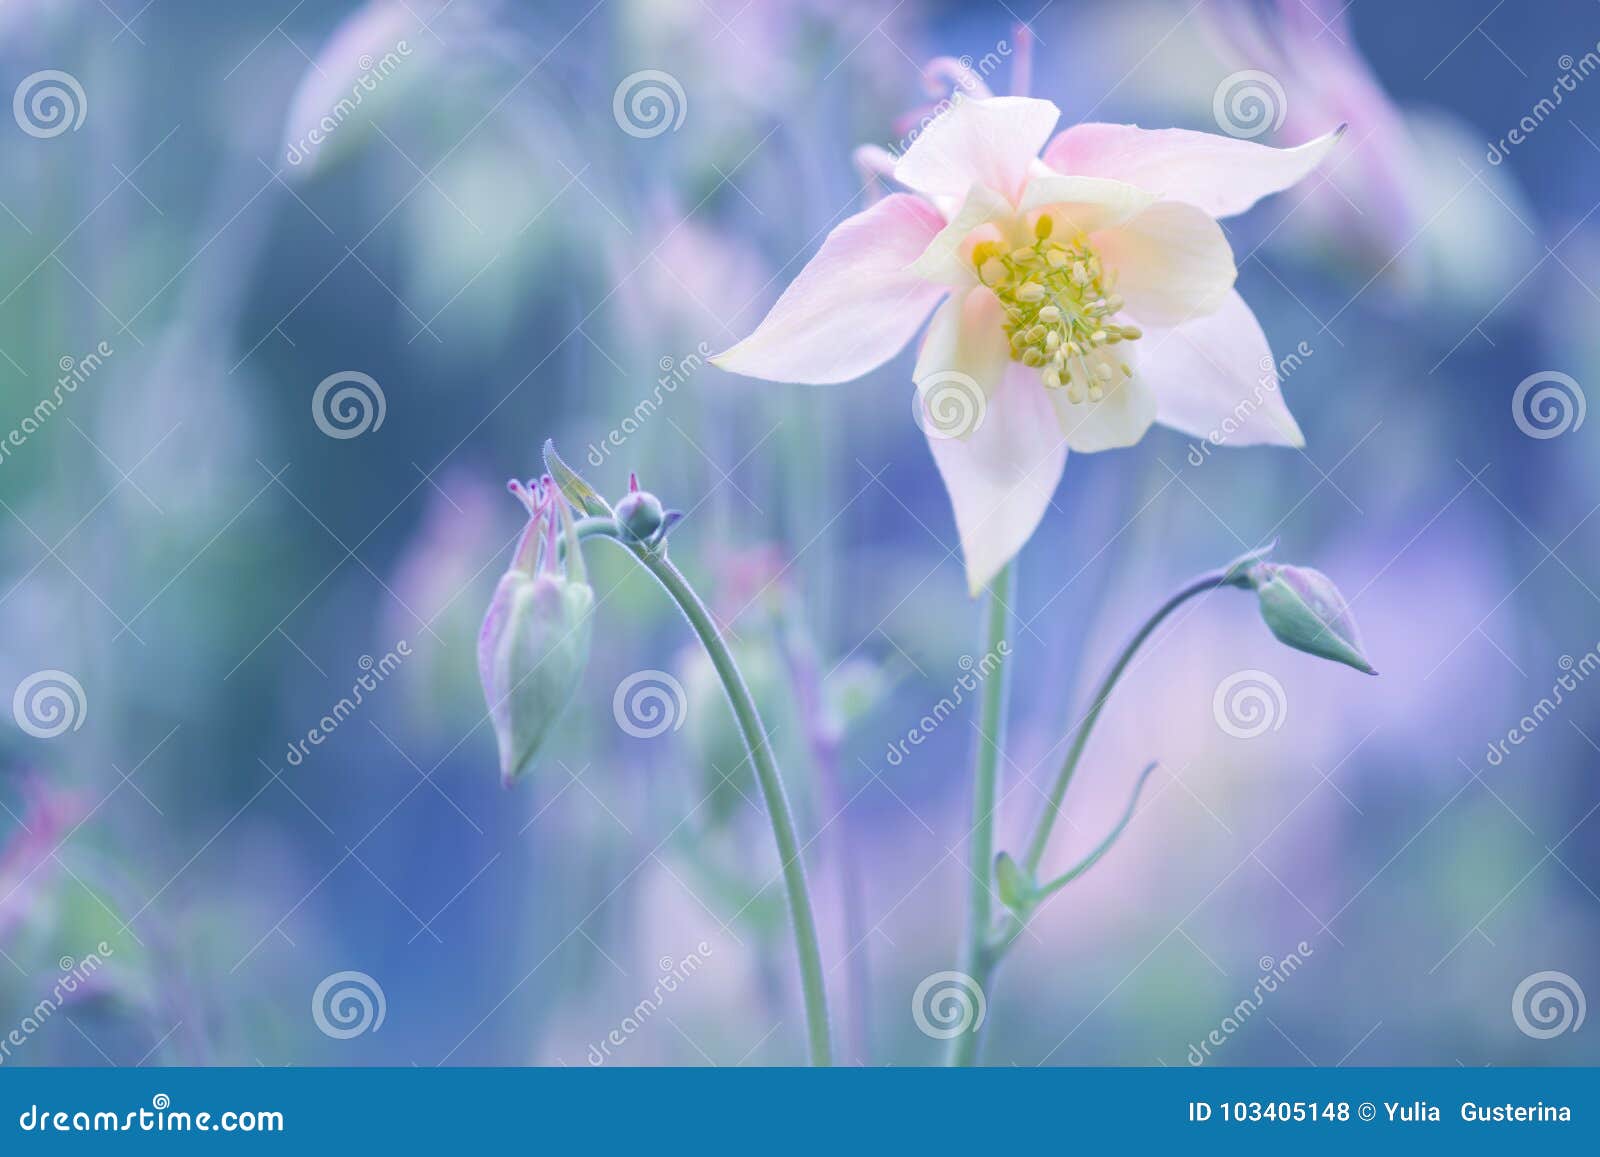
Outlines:
[[1182, 325], [1216, 310], [1238, 270], [1222, 227], [1182, 202], [1157, 202], [1093, 238], [1117, 293], [1142, 325]]

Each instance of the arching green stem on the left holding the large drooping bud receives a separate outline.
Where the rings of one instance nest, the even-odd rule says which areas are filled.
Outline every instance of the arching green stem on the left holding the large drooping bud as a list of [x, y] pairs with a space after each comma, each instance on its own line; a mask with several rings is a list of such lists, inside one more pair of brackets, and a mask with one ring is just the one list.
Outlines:
[[816, 917], [811, 914], [811, 895], [805, 882], [805, 863], [800, 858], [800, 837], [795, 832], [794, 811], [789, 808], [789, 795], [784, 792], [784, 781], [778, 773], [778, 760], [773, 757], [771, 744], [766, 741], [766, 728], [755, 711], [750, 688], [744, 683], [738, 664], [722, 632], [710, 618], [710, 611], [694, 594], [683, 573], [667, 560], [664, 546], [646, 546], [627, 541], [611, 518], [579, 518], [576, 523], [579, 538], [610, 538], [626, 547], [640, 566], [654, 574], [656, 581], [672, 597], [672, 602], [683, 611], [694, 634], [699, 635], [706, 653], [710, 656], [722, 688], [728, 695], [733, 715], [744, 736], [744, 746], [750, 752], [750, 763], [762, 784], [762, 797], [766, 800], [766, 815], [773, 821], [773, 839], [778, 843], [778, 859], [784, 869], [784, 888], [789, 893], [789, 915], [795, 928], [795, 952], [800, 957], [800, 987], [805, 994], [806, 1037], [810, 1042], [811, 1064], [826, 1066], [834, 1063], [834, 1048], [829, 1039], [827, 1023], [827, 989], [822, 983], [822, 952], [818, 947]]

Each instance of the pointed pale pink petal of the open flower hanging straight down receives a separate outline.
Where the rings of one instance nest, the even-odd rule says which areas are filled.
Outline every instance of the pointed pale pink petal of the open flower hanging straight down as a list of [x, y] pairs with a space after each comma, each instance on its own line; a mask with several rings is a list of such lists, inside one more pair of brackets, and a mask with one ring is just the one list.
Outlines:
[[1032, 538], [1067, 462], [1038, 371], [1013, 365], [971, 437], [930, 435], [928, 446], [955, 509], [966, 587], [976, 595]]

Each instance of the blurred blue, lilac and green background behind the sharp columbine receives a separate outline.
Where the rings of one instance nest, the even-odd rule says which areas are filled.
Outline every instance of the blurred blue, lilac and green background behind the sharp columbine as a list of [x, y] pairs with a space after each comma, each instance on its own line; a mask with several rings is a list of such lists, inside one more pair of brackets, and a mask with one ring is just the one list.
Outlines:
[[[0, 5], [3, 1063], [803, 1059], [726, 707], [605, 544], [574, 706], [499, 786], [474, 645], [520, 531], [504, 480], [546, 437], [690, 512], [674, 557], [738, 637], [810, 840], [840, 1058], [939, 1058], [912, 999], [955, 963], [973, 704], [890, 749], [981, 648], [914, 354], [814, 389], [704, 355], [866, 205], [851, 150], [902, 147], [941, 96], [926, 61], [1011, 90], [1018, 21], [1064, 123], [1218, 131], [1250, 72], [1272, 123], [1235, 131], [1350, 130], [1227, 222], [1275, 354], [1301, 352], [1306, 451], [1157, 429], [1075, 454], [1022, 555], [1000, 847], [1194, 571], [1277, 538], [1382, 674], [1283, 650], [1243, 595], [1174, 616], [1048, 863], [1162, 770], [1006, 962], [986, 1058], [1600, 1061], [1574, 1016], [1514, 1013], [1544, 971], [1600, 992], [1600, 10], [1032, 6]], [[619, 104], [642, 70], [672, 123]], [[368, 379], [360, 429], [314, 403], [339, 374]], [[642, 671], [682, 687], [648, 738], [613, 712]], [[1240, 671], [1280, 688], [1248, 739], [1213, 711]], [[352, 1035], [317, 1008], [346, 971], [382, 994]]]

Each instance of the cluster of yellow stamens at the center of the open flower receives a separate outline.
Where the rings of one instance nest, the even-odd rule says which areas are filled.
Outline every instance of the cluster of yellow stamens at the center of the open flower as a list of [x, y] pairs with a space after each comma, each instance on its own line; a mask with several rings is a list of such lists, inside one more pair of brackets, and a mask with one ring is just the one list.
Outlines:
[[1112, 290], [1117, 270], [1102, 269], [1083, 234], [1053, 235], [1048, 213], [1034, 222], [1034, 243], [1008, 250], [1003, 242], [973, 248], [978, 278], [1005, 307], [1011, 358], [1037, 366], [1050, 389], [1066, 389], [1074, 405], [1099, 402], [1120, 373], [1133, 370], [1112, 349], [1141, 334], [1112, 315], [1122, 298]]

